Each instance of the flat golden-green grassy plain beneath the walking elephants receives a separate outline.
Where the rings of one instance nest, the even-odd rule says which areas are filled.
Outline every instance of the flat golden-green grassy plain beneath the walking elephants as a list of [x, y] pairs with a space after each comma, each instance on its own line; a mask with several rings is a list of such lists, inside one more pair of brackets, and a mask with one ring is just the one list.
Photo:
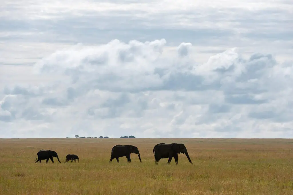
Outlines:
[[[179, 154], [156, 166], [162, 142], [184, 143], [193, 165]], [[137, 146], [142, 163], [109, 163], [116, 144]], [[40, 149], [62, 163], [34, 163]], [[0, 194], [293, 194], [292, 149], [292, 139], [0, 139]]]

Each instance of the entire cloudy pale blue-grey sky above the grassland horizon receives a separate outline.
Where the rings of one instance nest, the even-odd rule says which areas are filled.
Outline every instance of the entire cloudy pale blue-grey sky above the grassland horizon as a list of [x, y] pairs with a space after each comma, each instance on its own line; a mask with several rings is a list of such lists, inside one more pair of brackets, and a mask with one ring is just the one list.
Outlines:
[[292, 0], [4, 0], [0, 138], [293, 138]]

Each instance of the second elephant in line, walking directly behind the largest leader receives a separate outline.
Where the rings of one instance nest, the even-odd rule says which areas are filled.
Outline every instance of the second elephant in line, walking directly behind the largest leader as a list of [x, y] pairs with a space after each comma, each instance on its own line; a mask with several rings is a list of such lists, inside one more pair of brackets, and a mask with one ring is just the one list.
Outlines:
[[142, 162], [142, 160], [140, 159], [139, 150], [136, 146], [118, 144], [112, 148], [111, 158], [109, 163], [112, 162], [113, 159], [116, 159], [117, 163], [119, 163], [119, 157], [122, 157], [122, 156], [125, 156], [127, 158], [127, 163], [131, 163], [131, 159], [130, 159], [131, 153], [137, 154], [139, 161]]

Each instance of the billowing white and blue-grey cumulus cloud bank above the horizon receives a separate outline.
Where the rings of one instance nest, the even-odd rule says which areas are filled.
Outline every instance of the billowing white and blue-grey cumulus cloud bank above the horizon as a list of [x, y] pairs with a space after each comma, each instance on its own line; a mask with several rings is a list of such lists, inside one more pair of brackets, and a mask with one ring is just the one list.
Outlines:
[[293, 137], [292, 61], [228, 48], [198, 63], [191, 43], [166, 44], [47, 55], [32, 69], [46, 81], [4, 85], [1, 136]]

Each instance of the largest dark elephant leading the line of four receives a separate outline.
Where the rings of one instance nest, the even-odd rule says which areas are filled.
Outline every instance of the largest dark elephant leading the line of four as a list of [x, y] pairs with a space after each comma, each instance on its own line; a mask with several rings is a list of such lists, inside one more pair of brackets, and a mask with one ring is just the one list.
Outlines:
[[191, 164], [192, 161], [189, 158], [187, 149], [184, 144], [178, 144], [178, 143], [171, 143], [171, 144], [165, 144], [160, 143], [156, 144], [153, 149], [155, 162], [158, 164], [158, 162], [161, 159], [169, 158], [168, 163], [170, 164], [172, 158], [174, 157], [176, 165], [178, 164], [178, 154], [182, 153], [185, 154]]

